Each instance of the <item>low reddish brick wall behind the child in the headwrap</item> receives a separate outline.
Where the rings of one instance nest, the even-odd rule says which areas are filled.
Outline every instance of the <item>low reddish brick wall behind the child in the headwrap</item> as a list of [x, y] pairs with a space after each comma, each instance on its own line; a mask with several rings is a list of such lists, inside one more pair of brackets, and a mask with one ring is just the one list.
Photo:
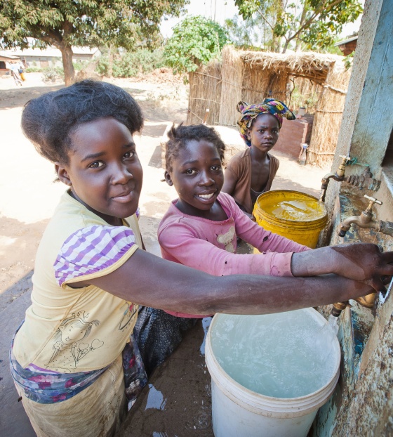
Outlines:
[[291, 121], [284, 118], [279, 140], [276, 145], [274, 145], [273, 150], [279, 150], [297, 159], [302, 144], [309, 144], [313, 119], [314, 117], [312, 115], [305, 115], [301, 119]]

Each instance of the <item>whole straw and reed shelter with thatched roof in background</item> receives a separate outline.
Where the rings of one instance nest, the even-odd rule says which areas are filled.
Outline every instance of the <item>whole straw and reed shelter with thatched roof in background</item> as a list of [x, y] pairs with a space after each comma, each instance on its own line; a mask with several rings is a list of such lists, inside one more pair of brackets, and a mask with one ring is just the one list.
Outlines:
[[295, 111], [298, 107], [293, 105], [306, 106], [314, 112], [307, 162], [325, 165], [333, 159], [349, 76], [340, 56], [235, 51], [225, 46], [220, 62], [189, 74], [187, 124], [236, 126], [240, 100], [257, 103], [274, 97]]

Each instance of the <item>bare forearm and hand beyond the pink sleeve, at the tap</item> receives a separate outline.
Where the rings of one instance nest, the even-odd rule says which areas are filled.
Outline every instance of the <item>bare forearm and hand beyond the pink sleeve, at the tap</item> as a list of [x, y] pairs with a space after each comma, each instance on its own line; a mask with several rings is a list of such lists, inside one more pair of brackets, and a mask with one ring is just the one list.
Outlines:
[[380, 252], [376, 244], [369, 243], [321, 247], [293, 254], [291, 271], [293, 276], [303, 277], [335, 273], [384, 292], [381, 276], [393, 275], [393, 252]]

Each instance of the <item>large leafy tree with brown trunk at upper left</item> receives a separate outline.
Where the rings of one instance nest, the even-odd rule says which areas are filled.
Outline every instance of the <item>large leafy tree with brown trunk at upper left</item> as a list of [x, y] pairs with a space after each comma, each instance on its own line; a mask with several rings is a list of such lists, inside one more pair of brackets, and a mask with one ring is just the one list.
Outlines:
[[164, 15], [179, 15], [189, 0], [5, 0], [0, 3], [0, 47], [53, 45], [62, 52], [66, 84], [74, 80], [72, 46], [148, 46]]

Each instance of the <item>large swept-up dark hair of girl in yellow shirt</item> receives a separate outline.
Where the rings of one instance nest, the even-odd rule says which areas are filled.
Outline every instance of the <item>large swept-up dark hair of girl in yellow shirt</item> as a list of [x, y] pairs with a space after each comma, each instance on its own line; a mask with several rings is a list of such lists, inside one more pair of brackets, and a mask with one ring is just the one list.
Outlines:
[[40, 155], [68, 164], [70, 134], [84, 123], [113, 117], [131, 133], [143, 126], [142, 111], [119, 86], [86, 79], [29, 100], [22, 112], [22, 131]]

